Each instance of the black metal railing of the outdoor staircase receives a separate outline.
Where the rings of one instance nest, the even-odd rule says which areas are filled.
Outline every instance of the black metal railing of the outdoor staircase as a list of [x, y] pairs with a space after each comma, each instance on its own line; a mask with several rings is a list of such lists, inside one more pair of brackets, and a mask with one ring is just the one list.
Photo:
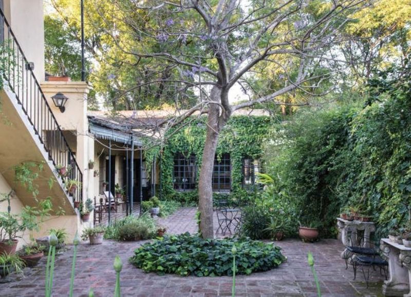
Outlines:
[[[3, 83], [7, 84], [15, 93], [18, 104], [22, 106], [35, 134], [38, 135], [48, 152], [49, 160], [54, 166], [71, 168], [63, 176], [66, 187], [70, 184], [68, 180], [76, 181], [74, 184], [77, 186], [82, 185], [83, 174], [74, 153], [34, 76], [33, 63], [30, 63], [24, 55], [2, 9], [0, 9], [0, 42], [2, 43], [0, 46], [0, 72], [3, 76]], [[68, 192], [69, 189], [66, 190]], [[80, 186], [69, 194], [72, 195], [73, 202], [83, 200]]]

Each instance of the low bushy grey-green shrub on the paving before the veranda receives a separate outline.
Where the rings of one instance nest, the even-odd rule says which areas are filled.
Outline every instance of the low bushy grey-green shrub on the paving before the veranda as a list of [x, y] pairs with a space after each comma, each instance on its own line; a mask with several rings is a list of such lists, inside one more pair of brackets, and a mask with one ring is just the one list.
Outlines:
[[148, 213], [142, 216], [127, 216], [106, 228], [104, 239], [135, 241], [153, 238], [156, 234], [156, 221]]

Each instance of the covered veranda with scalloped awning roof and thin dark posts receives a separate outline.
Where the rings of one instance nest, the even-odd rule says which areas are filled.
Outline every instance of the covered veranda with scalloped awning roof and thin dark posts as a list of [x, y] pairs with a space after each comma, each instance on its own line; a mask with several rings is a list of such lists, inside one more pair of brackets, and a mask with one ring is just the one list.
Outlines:
[[[89, 133], [95, 139], [95, 224], [142, 212], [152, 185], [147, 178], [142, 141], [133, 129], [107, 119], [89, 116]], [[156, 170], [153, 168], [155, 175]], [[111, 206], [111, 207], [109, 207]]]

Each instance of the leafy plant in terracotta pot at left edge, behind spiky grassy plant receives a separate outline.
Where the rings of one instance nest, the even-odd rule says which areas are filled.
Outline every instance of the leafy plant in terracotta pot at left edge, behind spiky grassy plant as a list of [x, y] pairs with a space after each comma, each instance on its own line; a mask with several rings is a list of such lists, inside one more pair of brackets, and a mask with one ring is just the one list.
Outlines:
[[16, 214], [0, 212], [0, 254], [15, 253], [18, 243], [17, 233], [25, 229]]

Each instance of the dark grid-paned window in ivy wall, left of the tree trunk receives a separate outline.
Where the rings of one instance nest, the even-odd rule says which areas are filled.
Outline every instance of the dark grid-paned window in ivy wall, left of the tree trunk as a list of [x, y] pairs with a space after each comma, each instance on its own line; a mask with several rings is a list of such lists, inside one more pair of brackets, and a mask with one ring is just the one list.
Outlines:
[[195, 155], [189, 157], [178, 153], [174, 156], [173, 184], [179, 191], [192, 190], [196, 187], [197, 165]]

